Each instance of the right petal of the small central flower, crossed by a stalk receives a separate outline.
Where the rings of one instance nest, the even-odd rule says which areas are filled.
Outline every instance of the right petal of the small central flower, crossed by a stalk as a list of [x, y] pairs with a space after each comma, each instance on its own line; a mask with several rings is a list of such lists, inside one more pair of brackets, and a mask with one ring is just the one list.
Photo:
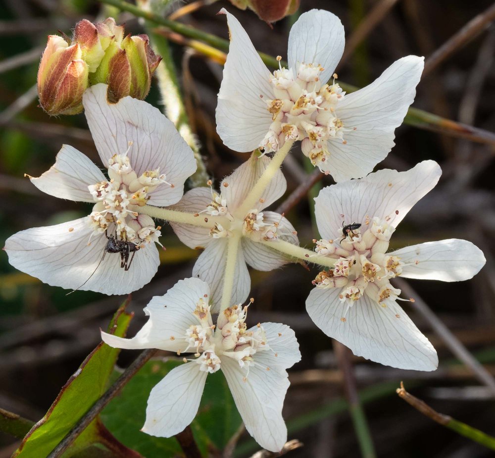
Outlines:
[[[296, 229], [287, 218], [274, 211], [263, 211], [263, 221], [267, 224], [278, 223], [278, 237], [286, 242], [299, 245], [297, 234], [295, 234]], [[242, 247], [246, 262], [256, 270], [268, 272], [292, 261], [288, 256], [247, 237], [243, 237]]]

